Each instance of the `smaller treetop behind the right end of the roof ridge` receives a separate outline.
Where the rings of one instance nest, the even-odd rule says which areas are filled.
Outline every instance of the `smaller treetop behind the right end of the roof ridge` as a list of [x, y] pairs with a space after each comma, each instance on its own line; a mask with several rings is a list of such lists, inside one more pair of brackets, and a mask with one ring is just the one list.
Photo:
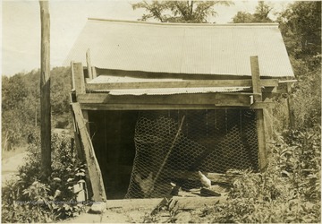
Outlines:
[[263, 1], [258, 1], [255, 13], [250, 14], [246, 12], [238, 12], [233, 17], [234, 23], [250, 23], [250, 22], [273, 22], [268, 14], [272, 11], [273, 7]]

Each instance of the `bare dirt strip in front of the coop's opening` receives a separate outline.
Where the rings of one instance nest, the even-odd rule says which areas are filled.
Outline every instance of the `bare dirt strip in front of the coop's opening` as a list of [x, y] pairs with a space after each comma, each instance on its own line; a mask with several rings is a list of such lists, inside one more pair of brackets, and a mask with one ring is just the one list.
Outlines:
[[204, 211], [223, 200], [225, 196], [110, 200], [104, 213], [81, 213], [64, 223], [210, 223], [213, 218]]

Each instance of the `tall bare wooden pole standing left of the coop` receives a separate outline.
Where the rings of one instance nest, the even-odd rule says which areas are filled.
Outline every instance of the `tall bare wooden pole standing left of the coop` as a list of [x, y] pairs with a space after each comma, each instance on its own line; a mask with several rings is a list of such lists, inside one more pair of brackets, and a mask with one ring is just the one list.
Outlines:
[[51, 174], [50, 108], [50, 17], [47, 0], [39, 0], [41, 20], [40, 119], [41, 169], [43, 177]]

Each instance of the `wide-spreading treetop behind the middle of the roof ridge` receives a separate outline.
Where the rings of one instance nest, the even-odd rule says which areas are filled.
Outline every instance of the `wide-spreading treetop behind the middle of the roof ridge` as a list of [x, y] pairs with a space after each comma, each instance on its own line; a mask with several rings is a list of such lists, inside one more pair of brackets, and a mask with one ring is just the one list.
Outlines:
[[216, 16], [215, 5], [231, 5], [232, 1], [142, 1], [132, 4], [133, 10], [142, 8], [140, 21], [155, 19], [159, 22], [208, 22], [208, 16]]

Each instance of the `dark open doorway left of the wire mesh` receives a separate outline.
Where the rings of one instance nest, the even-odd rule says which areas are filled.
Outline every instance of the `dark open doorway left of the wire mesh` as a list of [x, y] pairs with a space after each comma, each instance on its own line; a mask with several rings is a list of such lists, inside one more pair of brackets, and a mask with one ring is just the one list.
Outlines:
[[138, 111], [89, 111], [89, 130], [107, 199], [123, 199], [135, 157]]

